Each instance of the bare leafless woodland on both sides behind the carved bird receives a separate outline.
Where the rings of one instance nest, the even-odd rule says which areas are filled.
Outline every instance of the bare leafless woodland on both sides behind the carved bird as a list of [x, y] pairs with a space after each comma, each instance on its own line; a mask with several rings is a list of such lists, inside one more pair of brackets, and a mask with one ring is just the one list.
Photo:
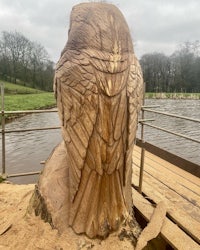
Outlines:
[[[144, 54], [146, 92], [200, 92], [200, 42], [185, 42], [172, 55]], [[19, 32], [0, 37], [0, 79], [41, 90], [52, 90], [54, 62], [46, 49]]]

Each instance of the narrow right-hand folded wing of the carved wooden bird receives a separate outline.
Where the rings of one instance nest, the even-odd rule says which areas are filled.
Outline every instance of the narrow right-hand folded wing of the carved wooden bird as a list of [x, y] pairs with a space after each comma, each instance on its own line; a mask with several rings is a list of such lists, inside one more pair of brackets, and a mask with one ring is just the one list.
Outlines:
[[128, 96], [128, 145], [126, 153], [126, 181], [132, 168], [133, 145], [138, 125], [138, 114], [143, 103], [144, 82], [142, 69], [137, 58], [134, 56], [130, 66], [129, 81], [127, 86]]

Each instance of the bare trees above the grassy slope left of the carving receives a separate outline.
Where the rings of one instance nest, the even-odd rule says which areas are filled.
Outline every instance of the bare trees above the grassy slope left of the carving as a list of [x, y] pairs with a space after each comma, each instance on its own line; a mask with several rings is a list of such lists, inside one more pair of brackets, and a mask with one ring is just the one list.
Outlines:
[[52, 90], [54, 63], [46, 49], [19, 32], [3, 31], [0, 38], [0, 79]]

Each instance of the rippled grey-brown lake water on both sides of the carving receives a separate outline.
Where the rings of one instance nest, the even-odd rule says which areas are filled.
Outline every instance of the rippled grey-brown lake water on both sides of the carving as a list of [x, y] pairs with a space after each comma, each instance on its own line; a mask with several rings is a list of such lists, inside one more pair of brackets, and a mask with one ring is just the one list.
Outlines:
[[[200, 100], [147, 99], [145, 105], [160, 105], [156, 110], [200, 119]], [[151, 123], [156, 126], [200, 140], [200, 123], [147, 112], [145, 112], [145, 118], [155, 119]], [[6, 124], [6, 129], [51, 127], [58, 126], [59, 123], [57, 113], [30, 114]], [[140, 125], [138, 137], [140, 138]], [[200, 144], [198, 143], [150, 127], [145, 127], [144, 138], [149, 143], [200, 165]], [[13, 174], [40, 171], [43, 168], [40, 162], [48, 158], [61, 140], [59, 129], [6, 134], [6, 172]], [[0, 144], [0, 156], [2, 157], [1, 150]], [[15, 183], [35, 183], [37, 179], [36, 175], [10, 180]]]

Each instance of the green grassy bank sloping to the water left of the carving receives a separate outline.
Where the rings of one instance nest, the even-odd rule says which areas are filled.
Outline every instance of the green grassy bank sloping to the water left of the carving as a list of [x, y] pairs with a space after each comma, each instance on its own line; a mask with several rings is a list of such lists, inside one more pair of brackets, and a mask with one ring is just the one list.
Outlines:
[[[56, 105], [53, 92], [45, 92], [9, 82], [3, 82], [3, 84], [5, 111], [47, 109]], [[6, 114], [5, 117], [8, 121], [15, 118], [16, 115]]]

